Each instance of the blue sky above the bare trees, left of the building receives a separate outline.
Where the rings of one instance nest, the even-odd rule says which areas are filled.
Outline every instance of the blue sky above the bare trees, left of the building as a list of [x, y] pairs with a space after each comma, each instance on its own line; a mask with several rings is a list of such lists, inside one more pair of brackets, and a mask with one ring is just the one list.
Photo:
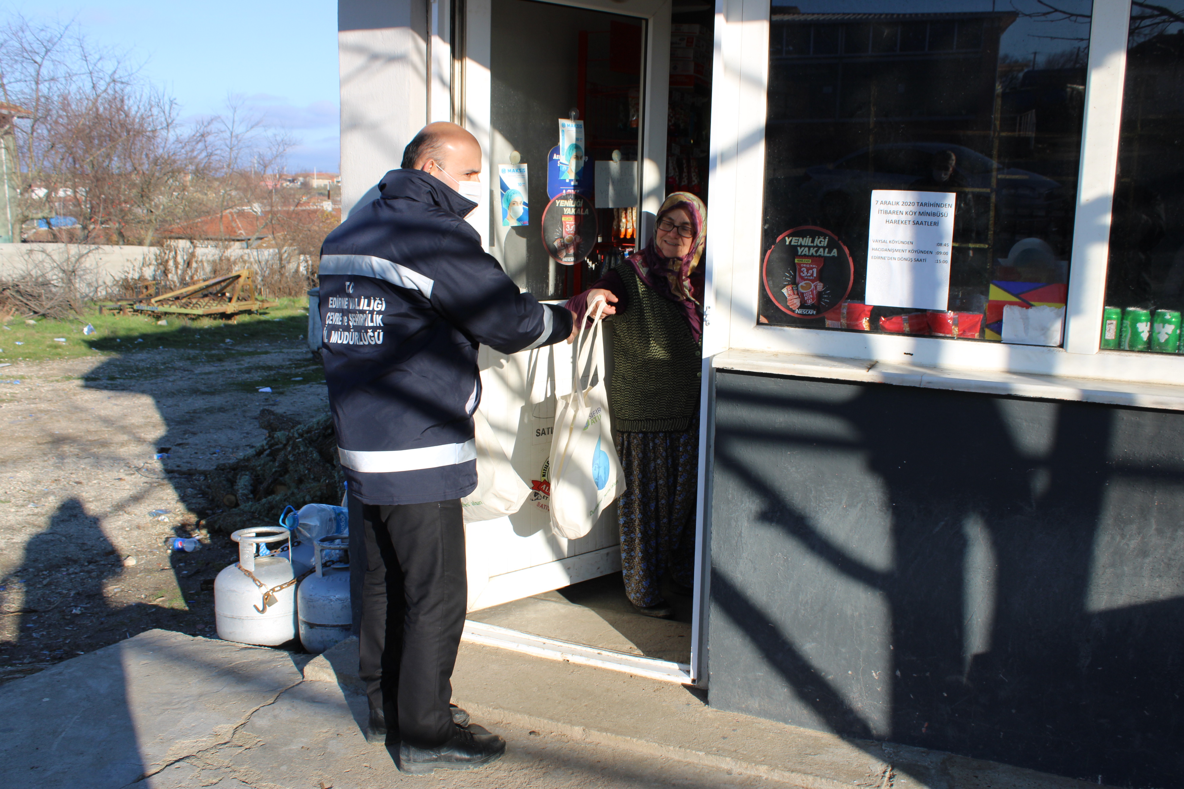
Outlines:
[[243, 95], [300, 144], [289, 170], [337, 170], [337, 4], [334, 0], [63, 2], [0, 0], [0, 17], [73, 19], [86, 38], [128, 52], [186, 115]]

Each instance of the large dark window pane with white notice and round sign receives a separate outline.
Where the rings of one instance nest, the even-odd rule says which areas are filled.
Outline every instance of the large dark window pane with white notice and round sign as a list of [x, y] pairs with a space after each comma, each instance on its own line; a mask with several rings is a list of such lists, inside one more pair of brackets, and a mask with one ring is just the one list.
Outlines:
[[1092, 4], [912, 5], [772, 6], [758, 319], [1060, 345]]

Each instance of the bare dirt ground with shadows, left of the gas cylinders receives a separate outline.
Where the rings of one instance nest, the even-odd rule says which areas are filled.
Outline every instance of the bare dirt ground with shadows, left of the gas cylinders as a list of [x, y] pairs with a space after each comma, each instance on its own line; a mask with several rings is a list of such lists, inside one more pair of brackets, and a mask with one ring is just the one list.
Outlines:
[[[303, 338], [0, 370], [0, 683], [150, 628], [213, 635], [236, 549], [198, 525], [200, 472], [263, 440], [260, 408], [327, 413]], [[170, 552], [170, 536], [201, 548]]]

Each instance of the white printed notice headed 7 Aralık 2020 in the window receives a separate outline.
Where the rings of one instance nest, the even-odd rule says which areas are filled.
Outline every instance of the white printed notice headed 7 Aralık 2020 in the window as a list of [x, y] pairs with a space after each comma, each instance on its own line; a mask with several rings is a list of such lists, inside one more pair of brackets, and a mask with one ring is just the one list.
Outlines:
[[953, 193], [874, 189], [864, 302], [944, 311], [953, 238]]

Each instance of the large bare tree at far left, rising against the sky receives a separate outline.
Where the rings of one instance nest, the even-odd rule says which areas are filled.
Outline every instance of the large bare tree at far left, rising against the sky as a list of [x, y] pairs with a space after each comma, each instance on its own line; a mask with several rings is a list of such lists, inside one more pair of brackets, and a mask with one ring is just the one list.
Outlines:
[[126, 56], [92, 47], [72, 22], [14, 17], [0, 30], [0, 91], [32, 115], [15, 128], [22, 222], [69, 214], [83, 241], [150, 244], [186, 214], [208, 124], [182, 124]]

